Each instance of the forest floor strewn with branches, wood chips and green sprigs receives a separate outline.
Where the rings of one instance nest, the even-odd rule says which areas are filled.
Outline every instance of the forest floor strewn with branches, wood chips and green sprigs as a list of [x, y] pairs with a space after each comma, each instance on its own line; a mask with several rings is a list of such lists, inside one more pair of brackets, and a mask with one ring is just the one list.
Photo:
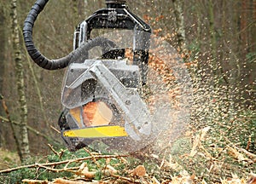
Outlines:
[[[14, 152], [0, 150], [0, 183], [222, 183], [255, 184], [256, 155], [232, 143], [218, 147], [208, 128], [172, 146], [132, 155], [77, 152], [49, 146], [52, 154], [21, 164]], [[3, 172], [3, 170], [5, 170]], [[254, 174], [253, 174], [254, 173]]]

